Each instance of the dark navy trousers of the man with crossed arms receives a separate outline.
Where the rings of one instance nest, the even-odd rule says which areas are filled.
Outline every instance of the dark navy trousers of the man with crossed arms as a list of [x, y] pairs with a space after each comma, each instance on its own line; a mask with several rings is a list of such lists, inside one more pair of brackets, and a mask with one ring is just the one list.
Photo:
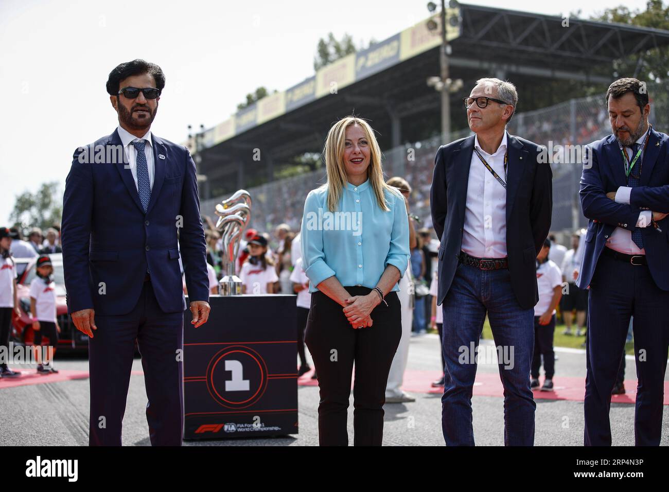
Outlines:
[[620, 370], [632, 316], [638, 378], [634, 442], [637, 446], [660, 445], [669, 351], [667, 306], [669, 291], [658, 288], [648, 265], [634, 266], [605, 254], [599, 256], [590, 281], [585, 335], [586, 446], [611, 446], [611, 390]]

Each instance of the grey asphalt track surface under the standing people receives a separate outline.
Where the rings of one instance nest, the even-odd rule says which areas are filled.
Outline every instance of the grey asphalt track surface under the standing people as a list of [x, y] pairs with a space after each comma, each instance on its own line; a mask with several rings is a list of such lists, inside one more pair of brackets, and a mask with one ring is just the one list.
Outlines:
[[[559, 388], [583, 384], [585, 381], [585, 351], [557, 349], [555, 384]], [[429, 388], [438, 376], [440, 365], [437, 335], [411, 338], [407, 385], [416, 401], [407, 404], [385, 405], [383, 444], [388, 446], [444, 446], [441, 427], [440, 392]], [[34, 365], [10, 364], [13, 369], [35, 372]], [[85, 357], [58, 357], [60, 370], [88, 371]], [[479, 446], [504, 444], [504, 406], [494, 363], [479, 363], [472, 407], [474, 438]], [[9, 378], [0, 380], [0, 445], [3, 446], [86, 446], [88, 445], [88, 379], [47, 382], [51, 376], [40, 376], [39, 384], [9, 387]], [[561, 382], [561, 378], [563, 382]], [[301, 380], [311, 383], [308, 376]], [[628, 356], [626, 386], [636, 386], [634, 360]], [[665, 388], [669, 388], [665, 374]], [[580, 382], [580, 383], [579, 383]], [[3, 388], [3, 386], [5, 386]], [[413, 388], [415, 391], [411, 391]], [[494, 396], [477, 395], [486, 393]], [[571, 395], [565, 400], [536, 398], [537, 446], [581, 446], [583, 444], [583, 392], [569, 388], [558, 390]], [[580, 396], [579, 396], [580, 394]], [[669, 391], [665, 390], [662, 442], [669, 444]], [[617, 403], [625, 401], [626, 403]], [[614, 446], [634, 445], [634, 404], [628, 396], [614, 397], [611, 403], [611, 430]], [[124, 446], [149, 446], [149, 428], [145, 417], [147, 396], [140, 359], [133, 363], [128, 402], [123, 421]], [[318, 387], [299, 386], [298, 419], [300, 432], [295, 436], [278, 438], [235, 438], [227, 440], [188, 440], [185, 446], [314, 446], [318, 444]], [[353, 396], [349, 406], [349, 444], [353, 444]]]

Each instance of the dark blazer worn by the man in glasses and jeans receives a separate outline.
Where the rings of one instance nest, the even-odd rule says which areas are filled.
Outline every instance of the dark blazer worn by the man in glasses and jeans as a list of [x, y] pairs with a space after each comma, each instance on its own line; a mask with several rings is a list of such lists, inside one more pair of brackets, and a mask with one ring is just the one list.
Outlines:
[[[541, 147], [536, 143], [508, 134], [506, 141], [508, 269], [518, 304], [530, 309], [539, 301], [537, 254], [551, 228], [553, 171], [549, 163], [539, 163]], [[435, 158], [430, 208], [434, 230], [442, 242], [439, 248], [438, 305], [444, 301], [458, 267], [473, 153], [474, 135], [442, 145]]]

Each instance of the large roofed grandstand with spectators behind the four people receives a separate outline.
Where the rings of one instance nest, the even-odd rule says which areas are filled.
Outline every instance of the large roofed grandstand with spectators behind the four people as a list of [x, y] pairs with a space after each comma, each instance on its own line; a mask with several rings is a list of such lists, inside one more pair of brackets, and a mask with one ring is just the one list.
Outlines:
[[[447, 19], [450, 74], [464, 82], [451, 96], [452, 127], [466, 127], [461, 100], [476, 79], [508, 78], [520, 94], [510, 132], [543, 145], [585, 144], [610, 133], [601, 97], [537, 108], [550, 83], [578, 81], [603, 91], [614, 79], [615, 60], [669, 44], [669, 31], [660, 29], [581, 19], [563, 27], [561, 17], [476, 5], [448, 9]], [[296, 156], [320, 153], [332, 122], [355, 112], [379, 133], [384, 169], [407, 177], [414, 188], [412, 212], [430, 226], [429, 185], [442, 142], [436, 137], [440, 94], [426, 80], [440, 73], [440, 29], [429, 31], [426, 21], [337, 60], [194, 136], [188, 145], [205, 177], [202, 213], [212, 215], [215, 203], [246, 188], [254, 198], [252, 226], [271, 230], [285, 222], [298, 228], [304, 197], [323, 182], [324, 169], [280, 182], [274, 174]], [[555, 98], [558, 102], [559, 94]], [[468, 134], [465, 128], [451, 139]], [[584, 224], [577, 202], [579, 165], [554, 164], [553, 171], [553, 229], [573, 230]]]

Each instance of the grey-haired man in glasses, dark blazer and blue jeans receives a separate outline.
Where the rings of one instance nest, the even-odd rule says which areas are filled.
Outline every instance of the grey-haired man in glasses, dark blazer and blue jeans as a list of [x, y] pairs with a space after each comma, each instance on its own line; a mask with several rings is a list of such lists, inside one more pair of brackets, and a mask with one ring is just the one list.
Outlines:
[[449, 446], [474, 445], [472, 387], [486, 314], [500, 356], [504, 443], [534, 444], [536, 257], [551, 226], [553, 175], [541, 147], [506, 133], [517, 102], [513, 84], [478, 80], [464, 99], [476, 135], [443, 145], [435, 159], [430, 207], [441, 240], [437, 304], [444, 310], [442, 429]]

